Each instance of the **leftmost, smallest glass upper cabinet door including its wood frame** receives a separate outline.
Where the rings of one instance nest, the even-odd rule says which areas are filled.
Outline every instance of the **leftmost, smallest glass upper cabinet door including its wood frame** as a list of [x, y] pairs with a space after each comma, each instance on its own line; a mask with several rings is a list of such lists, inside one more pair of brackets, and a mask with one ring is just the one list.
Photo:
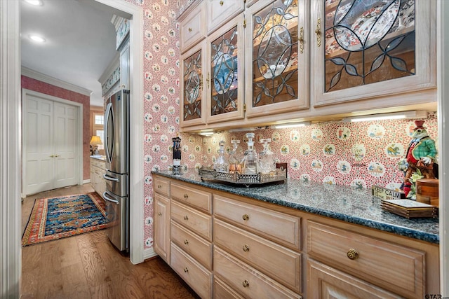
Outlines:
[[181, 56], [181, 118], [180, 126], [206, 123], [203, 67], [206, 65], [206, 41], [199, 43]]

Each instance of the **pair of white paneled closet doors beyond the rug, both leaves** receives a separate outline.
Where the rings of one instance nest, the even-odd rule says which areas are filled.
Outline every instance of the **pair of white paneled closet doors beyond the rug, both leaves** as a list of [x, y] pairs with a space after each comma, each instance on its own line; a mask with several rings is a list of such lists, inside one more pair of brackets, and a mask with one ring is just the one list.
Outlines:
[[82, 105], [22, 90], [22, 197], [82, 183]]

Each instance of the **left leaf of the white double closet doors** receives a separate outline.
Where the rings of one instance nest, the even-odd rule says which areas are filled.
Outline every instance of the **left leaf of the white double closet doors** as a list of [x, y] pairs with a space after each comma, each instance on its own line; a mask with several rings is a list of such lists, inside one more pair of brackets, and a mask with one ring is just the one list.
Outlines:
[[25, 104], [25, 194], [53, 189], [53, 102], [28, 95]]

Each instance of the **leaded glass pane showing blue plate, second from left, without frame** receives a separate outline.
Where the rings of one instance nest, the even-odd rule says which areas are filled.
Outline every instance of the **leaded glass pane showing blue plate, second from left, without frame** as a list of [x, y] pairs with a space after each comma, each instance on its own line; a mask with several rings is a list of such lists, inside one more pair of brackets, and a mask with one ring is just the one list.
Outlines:
[[237, 27], [210, 45], [210, 115], [237, 111]]

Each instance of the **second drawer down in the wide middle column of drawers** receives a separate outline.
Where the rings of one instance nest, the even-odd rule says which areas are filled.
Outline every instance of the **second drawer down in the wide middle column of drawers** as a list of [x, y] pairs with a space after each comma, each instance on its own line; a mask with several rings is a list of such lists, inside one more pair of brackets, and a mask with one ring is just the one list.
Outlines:
[[301, 292], [300, 253], [217, 219], [213, 242], [293, 291]]

